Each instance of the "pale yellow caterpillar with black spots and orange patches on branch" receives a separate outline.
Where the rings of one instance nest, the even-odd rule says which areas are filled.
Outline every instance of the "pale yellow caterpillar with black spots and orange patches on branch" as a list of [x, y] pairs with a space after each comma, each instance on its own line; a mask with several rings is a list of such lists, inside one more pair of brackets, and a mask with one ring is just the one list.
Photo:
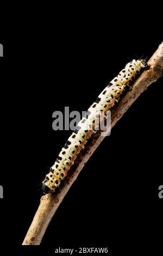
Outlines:
[[96, 101], [87, 110], [86, 115], [79, 121], [76, 130], [68, 138], [50, 172], [43, 180], [42, 190], [44, 193], [54, 192], [55, 188], [60, 185], [61, 180], [65, 179], [68, 170], [74, 164], [77, 155], [84, 148], [87, 140], [96, 133], [96, 126], [101, 121], [99, 118], [101, 112], [104, 112], [104, 118], [106, 118], [106, 113], [118, 102], [124, 90], [130, 88], [130, 82], [142, 70], [148, 68], [146, 60], [133, 59], [98, 95]]

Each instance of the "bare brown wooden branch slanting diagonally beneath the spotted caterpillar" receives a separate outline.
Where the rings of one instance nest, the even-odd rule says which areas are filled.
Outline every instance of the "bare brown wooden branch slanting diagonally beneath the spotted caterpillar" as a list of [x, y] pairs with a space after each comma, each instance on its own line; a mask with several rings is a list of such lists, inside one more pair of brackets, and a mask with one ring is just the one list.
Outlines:
[[[148, 64], [151, 65], [151, 68], [148, 71], [144, 71], [141, 76], [137, 78], [133, 84], [131, 92], [125, 94], [111, 111], [111, 127], [117, 123], [137, 97], [139, 97], [150, 84], [162, 76], [163, 42], [159, 45], [158, 50], [156, 50], [151, 59], [149, 59]], [[90, 139], [90, 142], [86, 145], [83, 152], [79, 154], [77, 162], [72, 167], [72, 170], [70, 170], [70, 173], [68, 172], [69, 174], [65, 180], [65, 186], [61, 185], [60, 191], [57, 190], [54, 195], [49, 193], [41, 197], [39, 208], [23, 241], [23, 245], [40, 245], [42, 237], [45, 234], [55, 211], [57, 211], [60, 203], [64, 199], [73, 182], [77, 179], [77, 176], [85, 163], [89, 160], [90, 156], [104, 138], [105, 137], [101, 136], [101, 131], [98, 131], [96, 135]]]

